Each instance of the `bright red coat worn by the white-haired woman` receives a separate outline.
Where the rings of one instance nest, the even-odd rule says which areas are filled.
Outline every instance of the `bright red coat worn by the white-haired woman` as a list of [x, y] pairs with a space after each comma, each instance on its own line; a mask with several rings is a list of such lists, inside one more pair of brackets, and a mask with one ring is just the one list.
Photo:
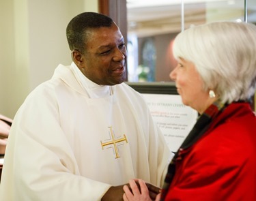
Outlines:
[[249, 104], [229, 105], [181, 152], [165, 200], [256, 200], [256, 117]]

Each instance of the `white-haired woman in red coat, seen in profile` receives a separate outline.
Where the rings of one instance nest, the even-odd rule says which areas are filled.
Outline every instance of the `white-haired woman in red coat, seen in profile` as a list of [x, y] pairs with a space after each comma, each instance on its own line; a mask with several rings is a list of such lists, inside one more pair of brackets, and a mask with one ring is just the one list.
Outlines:
[[[156, 200], [256, 200], [256, 26], [213, 22], [175, 38], [170, 74], [200, 117], [177, 151]], [[137, 184], [136, 184], [137, 183]], [[138, 188], [139, 187], [139, 188]], [[144, 181], [124, 200], [151, 200]]]

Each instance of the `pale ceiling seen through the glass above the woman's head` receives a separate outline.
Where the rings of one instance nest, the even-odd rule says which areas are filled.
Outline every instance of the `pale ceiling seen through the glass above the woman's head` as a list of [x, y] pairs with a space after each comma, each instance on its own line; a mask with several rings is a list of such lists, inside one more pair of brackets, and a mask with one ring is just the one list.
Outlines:
[[[256, 22], [256, 1], [248, 1], [254, 1], [248, 16]], [[139, 37], [177, 33], [210, 21], [244, 21], [244, 0], [127, 0], [127, 20], [128, 33]]]

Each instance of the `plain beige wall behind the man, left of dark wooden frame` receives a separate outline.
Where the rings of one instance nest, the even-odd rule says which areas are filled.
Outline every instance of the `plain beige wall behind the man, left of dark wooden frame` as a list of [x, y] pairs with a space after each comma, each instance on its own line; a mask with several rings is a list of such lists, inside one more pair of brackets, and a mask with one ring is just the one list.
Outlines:
[[59, 63], [71, 63], [66, 26], [76, 14], [98, 12], [91, 0], [0, 0], [0, 113], [10, 118]]

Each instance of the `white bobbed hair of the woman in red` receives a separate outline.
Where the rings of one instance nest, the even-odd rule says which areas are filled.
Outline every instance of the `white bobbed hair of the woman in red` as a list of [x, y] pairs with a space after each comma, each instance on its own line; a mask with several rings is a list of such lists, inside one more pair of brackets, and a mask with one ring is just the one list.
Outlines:
[[222, 102], [248, 100], [256, 87], [256, 26], [212, 22], [186, 29], [173, 44], [173, 55], [193, 62]]

